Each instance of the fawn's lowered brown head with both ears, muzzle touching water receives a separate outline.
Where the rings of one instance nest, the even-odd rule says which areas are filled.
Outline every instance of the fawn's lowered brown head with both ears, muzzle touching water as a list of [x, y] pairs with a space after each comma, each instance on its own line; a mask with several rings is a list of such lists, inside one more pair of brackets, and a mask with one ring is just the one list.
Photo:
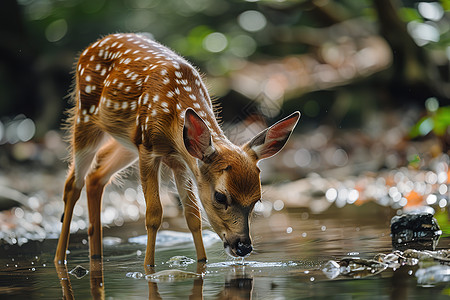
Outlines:
[[213, 140], [205, 122], [192, 109], [186, 111], [183, 139], [189, 154], [198, 160], [200, 201], [230, 256], [247, 256], [252, 251], [249, 216], [261, 200], [258, 162], [284, 147], [299, 118], [295, 112], [236, 146], [228, 140]]

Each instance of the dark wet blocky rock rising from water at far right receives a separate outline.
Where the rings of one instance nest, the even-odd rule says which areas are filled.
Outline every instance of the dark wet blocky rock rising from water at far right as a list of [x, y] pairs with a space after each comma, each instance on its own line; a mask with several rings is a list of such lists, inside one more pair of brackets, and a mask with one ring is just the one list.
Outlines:
[[434, 250], [442, 231], [432, 214], [406, 214], [391, 219], [392, 247]]

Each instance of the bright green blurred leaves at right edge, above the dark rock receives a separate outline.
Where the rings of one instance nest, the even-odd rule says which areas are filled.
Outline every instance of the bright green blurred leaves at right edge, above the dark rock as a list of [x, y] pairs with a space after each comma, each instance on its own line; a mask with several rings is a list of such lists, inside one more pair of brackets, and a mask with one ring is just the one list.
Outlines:
[[427, 114], [412, 127], [410, 137], [426, 136], [430, 132], [442, 137], [450, 126], [450, 106], [439, 107], [435, 98], [428, 99], [425, 105]]

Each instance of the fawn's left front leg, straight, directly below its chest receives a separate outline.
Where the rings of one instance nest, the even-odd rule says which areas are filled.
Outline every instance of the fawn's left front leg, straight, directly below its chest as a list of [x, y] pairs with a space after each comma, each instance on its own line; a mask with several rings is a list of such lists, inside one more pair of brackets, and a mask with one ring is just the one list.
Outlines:
[[162, 222], [162, 206], [159, 198], [159, 167], [161, 159], [152, 158], [150, 153], [140, 151], [139, 166], [142, 190], [147, 209], [145, 211], [145, 227], [147, 229], [147, 250], [145, 251], [144, 267], [147, 272], [155, 266], [156, 233]]

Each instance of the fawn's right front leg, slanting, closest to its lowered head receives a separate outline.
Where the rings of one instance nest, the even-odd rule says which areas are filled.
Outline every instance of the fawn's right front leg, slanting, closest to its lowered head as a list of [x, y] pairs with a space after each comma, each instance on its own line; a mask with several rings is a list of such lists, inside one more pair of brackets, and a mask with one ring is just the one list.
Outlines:
[[199, 204], [193, 192], [193, 182], [185, 167], [173, 168], [178, 195], [184, 207], [184, 217], [194, 239], [197, 261], [206, 262], [206, 252], [202, 238], [202, 219]]

